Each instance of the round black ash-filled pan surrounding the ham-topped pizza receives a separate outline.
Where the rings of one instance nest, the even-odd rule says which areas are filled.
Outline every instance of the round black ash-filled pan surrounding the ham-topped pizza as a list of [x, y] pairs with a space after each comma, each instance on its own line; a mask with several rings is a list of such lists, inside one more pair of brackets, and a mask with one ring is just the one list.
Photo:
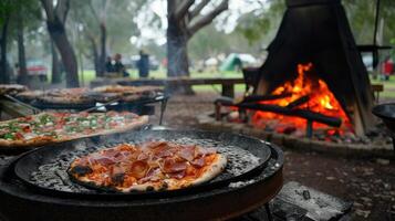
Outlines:
[[[97, 147], [112, 147], [122, 143], [138, 144], [146, 140], [168, 140], [215, 147], [228, 158], [227, 168], [209, 182], [171, 191], [146, 191], [117, 193], [82, 187], [66, 175], [70, 162], [80, 156], [96, 151]], [[270, 147], [256, 138], [230, 133], [185, 131], [185, 130], [137, 130], [110, 136], [84, 138], [32, 150], [23, 155], [14, 165], [14, 172], [25, 185], [50, 194], [67, 197], [92, 197], [94, 199], [137, 199], [149, 197], [171, 197], [208, 191], [241, 181], [260, 173], [270, 159]], [[33, 179], [32, 179], [33, 178]]]

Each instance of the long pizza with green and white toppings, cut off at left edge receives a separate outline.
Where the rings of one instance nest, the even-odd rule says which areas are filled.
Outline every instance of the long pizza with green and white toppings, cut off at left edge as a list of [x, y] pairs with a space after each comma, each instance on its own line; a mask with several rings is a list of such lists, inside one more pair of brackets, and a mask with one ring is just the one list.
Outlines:
[[41, 113], [0, 122], [0, 147], [28, 147], [141, 127], [148, 116], [129, 112]]

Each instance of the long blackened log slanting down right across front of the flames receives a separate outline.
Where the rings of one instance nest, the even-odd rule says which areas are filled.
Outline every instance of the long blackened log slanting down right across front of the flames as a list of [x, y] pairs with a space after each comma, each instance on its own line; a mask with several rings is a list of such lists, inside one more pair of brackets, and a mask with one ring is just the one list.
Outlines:
[[269, 105], [269, 104], [239, 104], [239, 107], [302, 117], [310, 122], [318, 122], [332, 127], [340, 127], [342, 125], [341, 118], [330, 117], [316, 112], [311, 112], [309, 109], [291, 109], [289, 107], [282, 107], [282, 106]]

